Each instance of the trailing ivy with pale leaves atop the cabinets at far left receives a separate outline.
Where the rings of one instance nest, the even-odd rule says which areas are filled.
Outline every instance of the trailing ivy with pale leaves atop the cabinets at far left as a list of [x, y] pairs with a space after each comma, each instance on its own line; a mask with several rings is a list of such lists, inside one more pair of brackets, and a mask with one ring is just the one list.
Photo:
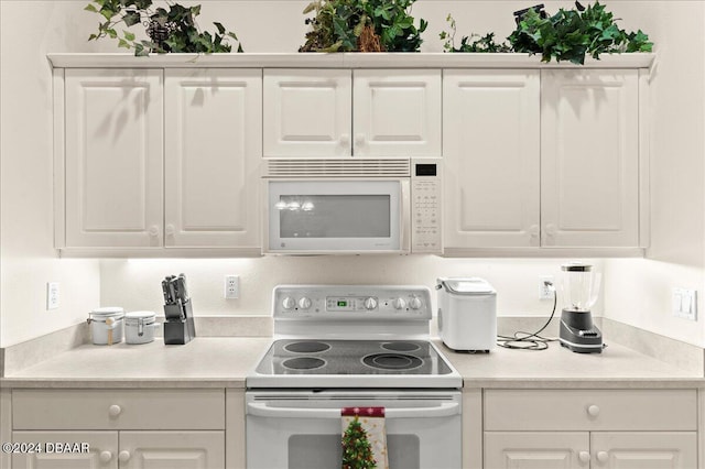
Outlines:
[[[228, 40], [238, 42], [238, 52], [242, 52], [235, 33], [226, 32], [220, 23], [214, 23], [217, 33], [200, 32], [195, 18], [200, 14], [200, 6], [184, 7], [167, 4], [169, 9], [152, 8], [152, 0], [93, 0], [86, 11], [100, 14], [105, 21], [98, 24], [98, 33], [90, 34], [88, 41], [110, 37], [118, 40], [118, 47], [134, 48], [134, 55], [149, 55], [150, 52], [219, 53], [231, 52]], [[150, 41], [138, 41], [132, 32], [122, 30], [122, 36], [116, 28], [124, 23], [127, 28], [144, 24]]]

